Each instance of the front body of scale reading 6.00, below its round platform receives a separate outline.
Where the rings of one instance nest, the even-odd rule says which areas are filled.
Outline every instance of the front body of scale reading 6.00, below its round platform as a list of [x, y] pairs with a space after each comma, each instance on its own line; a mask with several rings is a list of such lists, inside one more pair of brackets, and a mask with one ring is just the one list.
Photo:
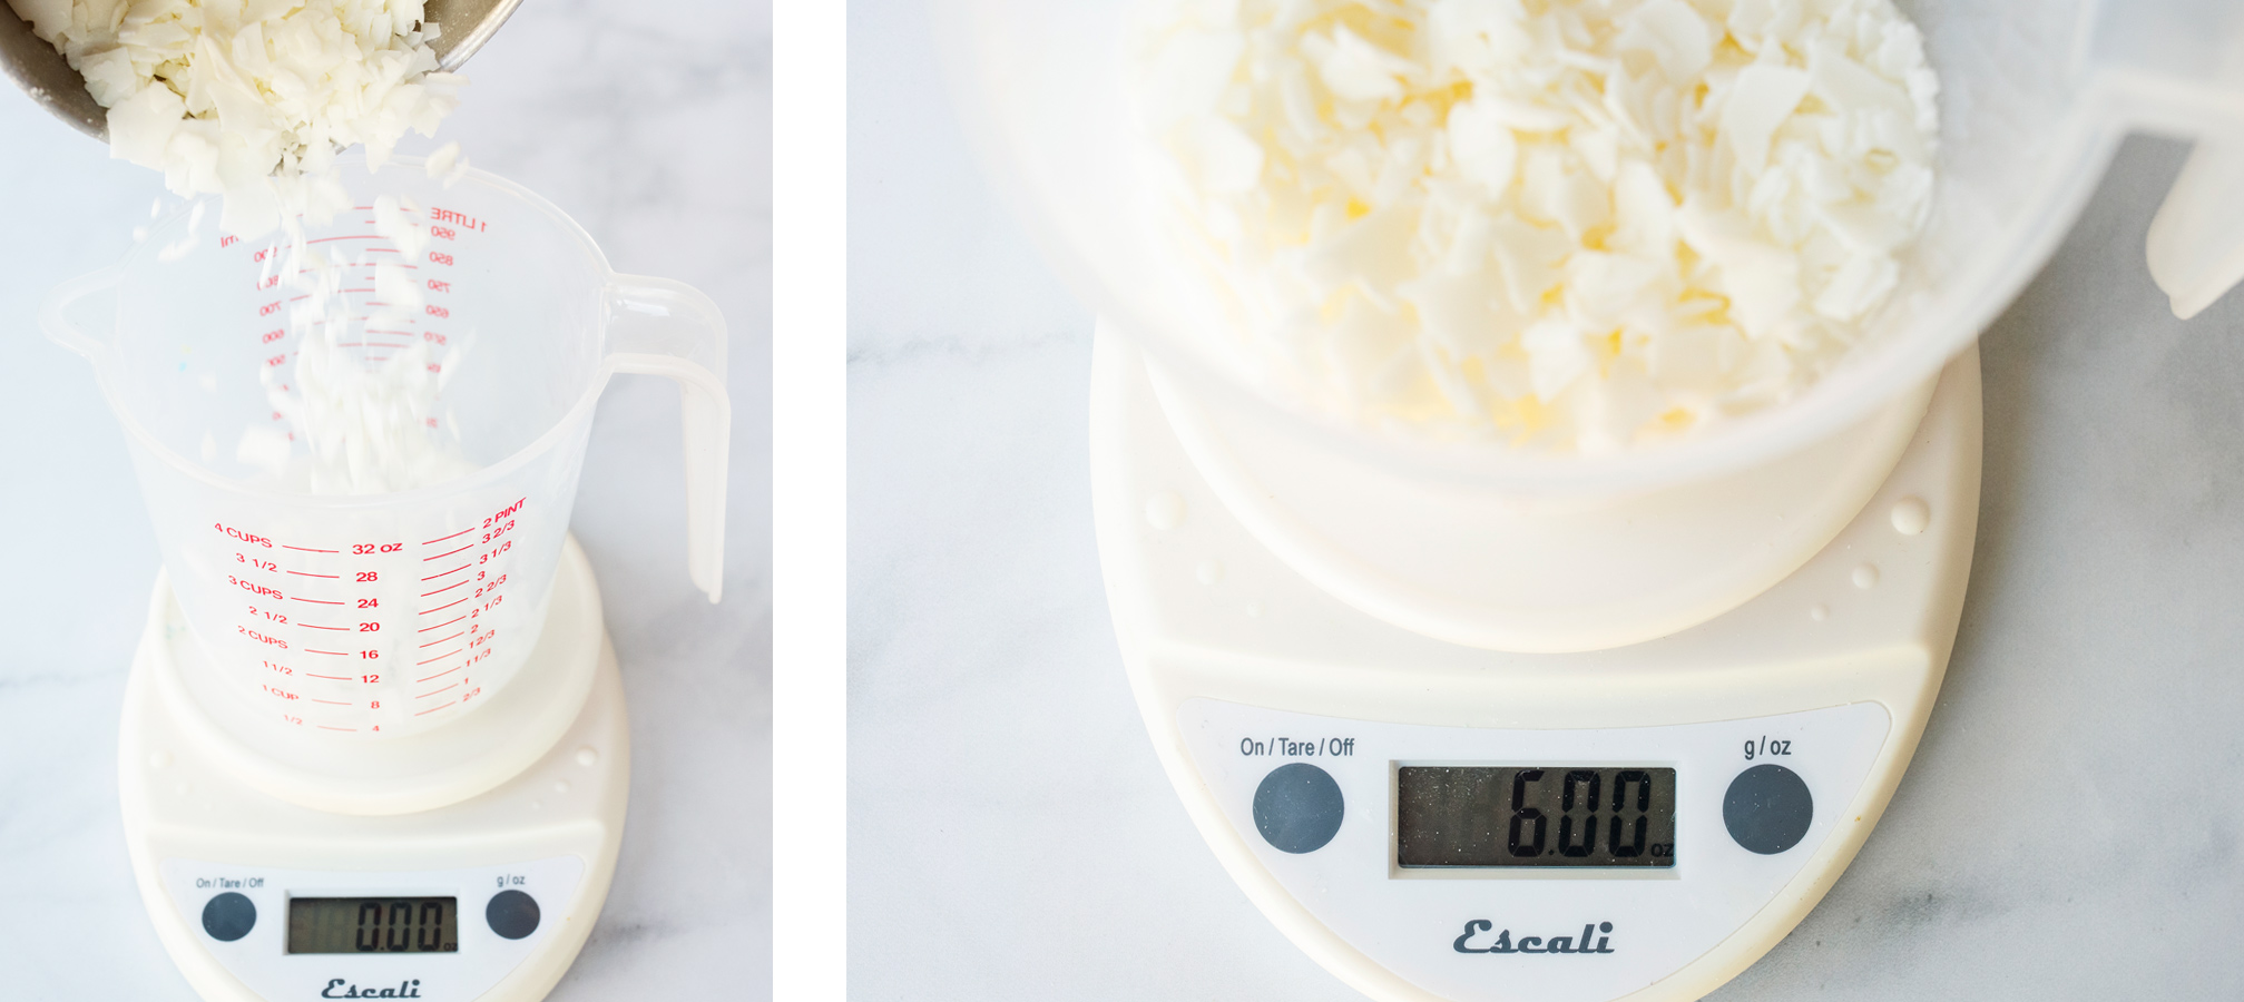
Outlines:
[[1609, 650], [1445, 643], [1272, 554], [1140, 352], [1093, 354], [1093, 493], [1169, 780], [1288, 939], [1376, 1000], [1696, 1000], [1878, 823], [1955, 641], [1977, 350], [1851, 522], [1775, 587]]

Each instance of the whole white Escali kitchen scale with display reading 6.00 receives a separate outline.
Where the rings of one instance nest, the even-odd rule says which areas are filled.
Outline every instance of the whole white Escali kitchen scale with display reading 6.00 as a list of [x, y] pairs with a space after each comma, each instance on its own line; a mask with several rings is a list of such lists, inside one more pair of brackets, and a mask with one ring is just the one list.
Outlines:
[[1878, 823], [1964, 605], [1977, 350], [1773, 471], [1636, 509], [1286, 455], [1104, 330], [1091, 415], [1162, 767], [1254, 906], [1376, 1000], [1735, 977]]

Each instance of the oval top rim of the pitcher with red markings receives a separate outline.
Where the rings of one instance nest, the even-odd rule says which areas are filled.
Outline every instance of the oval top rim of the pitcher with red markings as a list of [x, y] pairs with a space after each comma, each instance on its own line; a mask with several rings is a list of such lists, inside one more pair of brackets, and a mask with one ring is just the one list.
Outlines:
[[[370, 179], [375, 179], [375, 182], [381, 179], [381, 168], [368, 166], [368, 157], [364, 152], [352, 152], [352, 155], [337, 157], [337, 166], [339, 168], [359, 166], [359, 168], [366, 168], [366, 175]], [[426, 170], [426, 157], [393, 155], [393, 157], [386, 157], [381, 166]], [[545, 215], [550, 215], [561, 226], [563, 233], [568, 233], [570, 238], [574, 238], [577, 249], [583, 251], [586, 258], [595, 265], [595, 273], [599, 276], [599, 287], [595, 291], [606, 291], [608, 287], [615, 285], [615, 269], [608, 265], [608, 256], [601, 253], [599, 244], [592, 242], [592, 235], [586, 233], [583, 226], [577, 224], [577, 220], [572, 220], [568, 213], [563, 213], [561, 206], [552, 204], [550, 200], [545, 200], [543, 195], [539, 195], [539, 193], [534, 193], [530, 188], [523, 188], [521, 184], [514, 184], [514, 182], [509, 182], [505, 177], [498, 177], [498, 175], [494, 175], [489, 170], [480, 170], [480, 168], [473, 168], [473, 166], [465, 168], [460, 173], [458, 182], [476, 182], [476, 184], [480, 184], [485, 188], [494, 188], [500, 195], [512, 195], [512, 197], [525, 202], [527, 206], [543, 211]], [[195, 206], [209, 206], [213, 200], [215, 200], [215, 195], [197, 195], [197, 197], [184, 202], [182, 206], [173, 208], [162, 220], [157, 220], [150, 226], [150, 233], [155, 229], [159, 229], [159, 226], [166, 226], [166, 224], [180, 220], [182, 215], [193, 213]], [[130, 251], [126, 251], [126, 256], [117, 265], [112, 265], [117, 269], [117, 289], [119, 289], [119, 294], [123, 289], [123, 282], [126, 282], [123, 276], [128, 273], [128, 269], [132, 265], [144, 262], [144, 258], [150, 256], [150, 253], [157, 253], [155, 240], [141, 240]], [[606, 343], [606, 332], [601, 332], [601, 343]], [[294, 504], [294, 507], [310, 507], [310, 509], [325, 509], [325, 511], [364, 511], [364, 509], [388, 509], [388, 507], [404, 507], [404, 504], [426, 504], [426, 502], [442, 500], [447, 495], [460, 495], [460, 493], [473, 493], [473, 491], [491, 489], [500, 480], [507, 480], [514, 473], [518, 473], [523, 466], [530, 466], [532, 462], [541, 460], [545, 453], [550, 453], [552, 448], [557, 448], [561, 444], [561, 439], [565, 439], [568, 435], [574, 435], [592, 417], [592, 408], [599, 403], [599, 395], [608, 388], [608, 379], [615, 374], [613, 363], [608, 363], [606, 361], [606, 352], [601, 352], [604, 356], [601, 356], [599, 365], [592, 370], [592, 379], [586, 381], [583, 392], [577, 397], [574, 403], [570, 403], [570, 408], [550, 428], [545, 428], [543, 433], [539, 433], [539, 437], [530, 439], [530, 444], [516, 448], [507, 457], [503, 457], [503, 460], [498, 460], [498, 462], [494, 462], [489, 466], [480, 466], [473, 473], [465, 473], [460, 477], [444, 480], [444, 482], [429, 484], [429, 486], [415, 486], [411, 491], [381, 491], [381, 493], [296, 493], [296, 491], [274, 491], [274, 489], [267, 489], [267, 486], [256, 486], [256, 484], [249, 484], [249, 482], [242, 482], [242, 480], [224, 477], [224, 475], [211, 471], [209, 466], [202, 466], [200, 462], [191, 462], [184, 455], [180, 455], [177, 451], [173, 451], [171, 446], [162, 444], [132, 415], [132, 410], [126, 406], [123, 392], [117, 388], [114, 377], [112, 377], [112, 370], [117, 365], [114, 350], [108, 352], [108, 354], [112, 354], [112, 356], [99, 359], [94, 363], [94, 381], [101, 386], [101, 397], [110, 403], [110, 410], [117, 415], [117, 424], [123, 426], [126, 435], [132, 437], [132, 442], [141, 451], [146, 451], [148, 455], [162, 460], [173, 471], [184, 473], [186, 477], [200, 482], [202, 486], [215, 489], [215, 491], [224, 491], [224, 493], [233, 493], [233, 495], [242, 495], [242, 498], [258, 498], [263, 502], [285, 502], [285, 504]]]

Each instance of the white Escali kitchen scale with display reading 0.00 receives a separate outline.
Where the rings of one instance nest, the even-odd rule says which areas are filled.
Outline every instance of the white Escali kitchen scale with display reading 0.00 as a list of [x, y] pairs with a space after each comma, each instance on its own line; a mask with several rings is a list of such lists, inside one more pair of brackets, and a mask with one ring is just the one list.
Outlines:
[[[624, 832], [631, 740], [570, 540], [536, 650], [473, 715], [305, 749], [242, 717], [157, 581], [126, 684], [141, 901], [213, 1002], [534, 1002], [583, 948]], [[184, 668], [184, 670], [182, 670]]]

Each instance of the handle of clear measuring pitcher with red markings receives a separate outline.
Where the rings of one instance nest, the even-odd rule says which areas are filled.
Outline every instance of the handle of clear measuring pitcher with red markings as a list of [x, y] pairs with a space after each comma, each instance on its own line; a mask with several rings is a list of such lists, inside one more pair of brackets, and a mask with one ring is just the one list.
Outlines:
[[732, 453], [725, 314], [689, 285], [615, 276], [608, 280], [606, 365], [678, 383], [687, 457], [687, 574], [714, 603], [725, 594], [725, 460]]

